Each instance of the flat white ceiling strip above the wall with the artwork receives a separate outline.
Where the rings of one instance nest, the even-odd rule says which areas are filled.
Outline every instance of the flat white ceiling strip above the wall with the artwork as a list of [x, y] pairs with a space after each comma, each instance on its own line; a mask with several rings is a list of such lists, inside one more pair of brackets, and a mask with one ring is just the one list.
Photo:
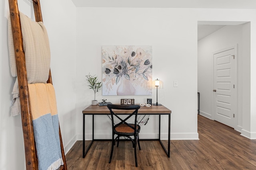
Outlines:
[[256, 9], [256, 0], [72, 0], [76, 7]]

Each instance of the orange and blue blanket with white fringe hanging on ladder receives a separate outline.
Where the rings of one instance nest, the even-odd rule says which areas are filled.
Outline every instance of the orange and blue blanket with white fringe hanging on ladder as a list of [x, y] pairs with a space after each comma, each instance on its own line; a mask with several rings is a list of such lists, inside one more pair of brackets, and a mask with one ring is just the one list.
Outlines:
[[63, 165], [56, 97], [52, 84], [28, 84], [38, 170]]

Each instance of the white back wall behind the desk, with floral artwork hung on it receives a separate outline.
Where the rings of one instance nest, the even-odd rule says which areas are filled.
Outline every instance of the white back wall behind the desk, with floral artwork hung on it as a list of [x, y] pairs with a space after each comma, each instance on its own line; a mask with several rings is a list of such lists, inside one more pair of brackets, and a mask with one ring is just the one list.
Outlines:
[[[171, 139], [197, 139], [197, 21], [251, 21], [250, 28], [254, 35], [256, 19], [252, 16], [255, 13], [256, 10], [228, 9], [77, 8], [78, 139], [82, 139], [81, 111], [91, 104], [93, 98], [93, 93], [85, 82], [85, 75], [90, 72], [102, 77], [102, 45], [152, 45], [153, 79], [163, 80], [165, 87], [162, 94], [159, 94], [158, 102], [172, 110]], [[241, 37], [239, 41], [242, 41]], [[252, 46], [255, 45], [255, 40], [252, 36]], [[251, 49], [250, 55], [254, 54], [255, 50]], [[253, 70], [251, 68], [250, 71]], [[255, 83], [252, 79], [254, 78], [251, 78], [251, 87]], [[178, 80], [178, 88], [173, 87], [174, 80]], [[99, 101], [107, 98], [112, 103], [119, 103], [119, 99], [123, 97], [125, 96], [102, 96], [101, 91], [97, 94]], [[132, 97], [135, 98], [135, 103], [140, 103], [149, 97], [155, 100], [156, 95]], [[240, 111], [241, 109], [239, 108]], [[256, 112], [247, 114], [249, 119], [246, 122], [250, 123], [250, 118]], [[91, 118], [86, 118], [86, 137], [90, 139]], [[100, 119], [95, 129], [96, 137], [110, 137], [108, 118], [99, 116], [96, 119]], [[150, 123], [147, 127], [142, 127], [142, 136], [156, 135], [151, 128], [153, 126], [153, 129], [157, 129], [157, 118], [150, 119]], [[239, 120], [239, 125], [241, 124]], [[251, 134], [255, 128], [249, 125], [245, 130]]]

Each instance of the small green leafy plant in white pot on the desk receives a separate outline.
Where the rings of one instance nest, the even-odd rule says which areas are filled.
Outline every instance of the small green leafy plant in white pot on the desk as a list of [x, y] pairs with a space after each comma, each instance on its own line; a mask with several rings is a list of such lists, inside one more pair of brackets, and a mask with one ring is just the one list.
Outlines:
[[90, 89], [92, 89], [94, 91], [94, 100], [92, 100], [92, 105], [97, 105], [98, 101], [95, 100], [95, 96], [96, 96], [96, 92], [98, 92], [100, 90], [100, 88], [102, 87], [102, 83], [98, 82], [98, 77], [97, 76], [92, 76], [90, 75], [90, 73], [88, 75], [86, 75], [86, 80], [89, 83], [89, 87]]

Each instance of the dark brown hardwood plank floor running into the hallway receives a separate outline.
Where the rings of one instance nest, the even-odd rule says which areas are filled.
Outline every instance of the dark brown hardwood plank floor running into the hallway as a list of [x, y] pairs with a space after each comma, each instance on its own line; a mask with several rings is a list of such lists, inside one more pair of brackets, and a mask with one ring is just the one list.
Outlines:
[[256, 140], [201, 115], [198, 133], [200, 140], [172, 140], [170, 158], [158, 141], [140, 141], [137, 168], [130, 141], [114, 147], [110, 164], [110, 141], [94, 142], [85, 158], [77, 141], [66, 155], [68, 170], [256, 170]]

